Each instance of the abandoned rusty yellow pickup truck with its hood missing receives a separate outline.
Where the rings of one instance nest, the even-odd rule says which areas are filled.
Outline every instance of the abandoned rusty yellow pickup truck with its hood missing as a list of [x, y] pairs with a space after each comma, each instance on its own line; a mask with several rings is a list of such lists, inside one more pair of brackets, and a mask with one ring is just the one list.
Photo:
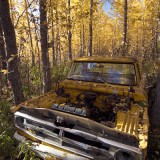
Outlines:
[[43, 159], [144, 160], [148, 101], [134, 58], [74, 60], [52, 92], [13, 108], [17, 140]]

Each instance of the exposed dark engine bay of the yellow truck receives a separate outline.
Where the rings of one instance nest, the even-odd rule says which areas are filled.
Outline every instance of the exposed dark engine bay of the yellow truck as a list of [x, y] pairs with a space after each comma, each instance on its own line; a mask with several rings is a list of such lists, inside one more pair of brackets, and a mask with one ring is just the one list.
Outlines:
[[54, 110], [87, 117], [108, 127], [116, 127], [117, 112], [130, 110], [131, 101], [128, 96], [118, 94], [102, 94], [91, 91], [81, 91], [76, 94], [74, 100], [71, 94], [64, 88], [56, 90], [57, 97], [66, 98], [65, 103], [54, 103]]

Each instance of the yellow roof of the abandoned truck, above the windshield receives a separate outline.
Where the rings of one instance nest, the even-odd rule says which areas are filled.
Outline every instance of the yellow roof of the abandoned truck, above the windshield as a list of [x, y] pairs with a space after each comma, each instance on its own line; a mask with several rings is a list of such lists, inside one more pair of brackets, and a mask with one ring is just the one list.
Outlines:
[[136, 58], [131, 57], [80, 57], [74, 62], [109, 62], [109, 63], [136, 63]]

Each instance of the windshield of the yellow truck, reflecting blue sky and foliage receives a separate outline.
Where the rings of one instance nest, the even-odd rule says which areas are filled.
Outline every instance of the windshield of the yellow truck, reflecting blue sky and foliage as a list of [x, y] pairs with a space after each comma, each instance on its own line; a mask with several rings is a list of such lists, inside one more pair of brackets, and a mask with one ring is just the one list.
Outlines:
[[134, 64], [74, 62], [67, 79], [136, 85]]

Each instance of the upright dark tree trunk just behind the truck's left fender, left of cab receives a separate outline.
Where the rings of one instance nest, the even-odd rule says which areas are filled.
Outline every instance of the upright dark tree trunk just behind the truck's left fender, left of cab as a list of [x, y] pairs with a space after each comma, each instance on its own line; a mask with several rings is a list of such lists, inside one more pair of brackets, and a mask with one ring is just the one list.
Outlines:
[[43, 92], [45, 93], [51, 90], [51, 73], [48, 55], [48, 24], [45, 0], [40, 0], [40, 35], [43, 70]]

